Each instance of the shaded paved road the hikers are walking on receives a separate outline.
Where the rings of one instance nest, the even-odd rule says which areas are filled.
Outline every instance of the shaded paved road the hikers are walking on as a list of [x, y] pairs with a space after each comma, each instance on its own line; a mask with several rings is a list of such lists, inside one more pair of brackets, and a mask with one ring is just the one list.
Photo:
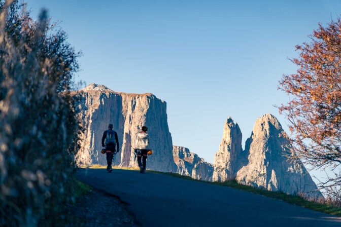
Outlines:
[[341, 226], [332, 215], [163, 174], [80, 169], [77, 177], [128, 203], [142, 226]]

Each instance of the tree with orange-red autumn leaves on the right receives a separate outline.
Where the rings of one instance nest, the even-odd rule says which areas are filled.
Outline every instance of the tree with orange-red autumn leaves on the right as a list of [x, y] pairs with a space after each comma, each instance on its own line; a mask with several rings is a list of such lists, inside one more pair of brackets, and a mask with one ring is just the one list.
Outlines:
[[279, 107], [289, 120], [296, 155], [316, 169], [335, 175], [321, 187], [341, 185], [341, 20], [319, 24], [310, 41], [297, 45], [295, 74], [283, 75], [279, 89], [291, 100]]

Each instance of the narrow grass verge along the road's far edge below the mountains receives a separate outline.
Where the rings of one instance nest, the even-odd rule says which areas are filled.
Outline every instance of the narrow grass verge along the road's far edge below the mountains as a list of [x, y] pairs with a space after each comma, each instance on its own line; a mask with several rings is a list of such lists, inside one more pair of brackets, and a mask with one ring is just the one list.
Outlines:
[[[82, 166], [82, 168], [105, 169], [105, 168], [107, 168], [107, 166], [92, 165], [92, 166], [86, 166], [86, 167]], [[139, 170], [138, 167], [119, 167], [119, 166], [114, 166], [113, 169]], [[316, 210], [316, 211], [320, 211], [320, 212], [328, 213], [328, 214], [333, 214], [333, 215], [341, 217], [341, 207], [335, 207], [335, 206], [331, 206], [328, 204], [312, 202], [312, 201], [304, 199], [301, 196], [288, 195], [288, 194], [285, 194], [282, 192], [267, 191], [267, 190], [264, 190], [261, 188], [256, 188], [253, 186], [240, 184], [240, 183], [236, 182], [235, 180], [228, 180], [225, 182], [209, 182], [209, 181], [193, 179], [192, 177], [183, 176], [183, 175], [180, 175], [178, 173], [160, 172], [160, 171], [154, 171], [154, 170], [147, 170], [147, 172], [164, 174], [164, 175], [168, 175], [168, 176], [178, 177], [178, 178], [187, 179], [187, 180], [200, 181], [200, 182], [204, 182], [204, 183], [217, 184], [217, 185], [221, 185], [221, 186], [233, 187], [233, 188], [236, 188], [238, 190], [243, 190], [243, 191], [247, 191], [250, 193], [254, 193], [254, 194], [258, 194], [258, 195], [262, 195], [262, 196], [266, 196], [266, 197], [270, 197], [270, 198], [274, 198], [274, 199], [279, 199], [279, 200], [282, 200], [282, 201], [285, 201], [285, 202], [288, 202], [291, 204], [295, 204], [295, 205], [298, 205], [301, 207], [305, 207], [305, 208], [309, 208], [312, 210]]]

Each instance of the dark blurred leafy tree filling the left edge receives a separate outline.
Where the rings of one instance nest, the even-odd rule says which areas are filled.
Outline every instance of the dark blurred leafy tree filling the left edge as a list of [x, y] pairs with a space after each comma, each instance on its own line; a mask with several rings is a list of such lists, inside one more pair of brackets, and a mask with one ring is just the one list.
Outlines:
[[0, 225], [53, 226], [73, 199], [79, 53], [42, 11], [0, 0]]

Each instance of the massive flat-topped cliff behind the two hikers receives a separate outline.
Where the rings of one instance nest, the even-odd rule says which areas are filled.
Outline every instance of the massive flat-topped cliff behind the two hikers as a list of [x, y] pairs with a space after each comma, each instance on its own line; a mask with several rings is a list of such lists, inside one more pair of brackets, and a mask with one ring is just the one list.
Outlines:
[[102, 85], [90, 84], [72, 93], [78, 98], [80, 118], [85, 129], [82, 147], [76, 157], [79, 164], [106, 165], [106, 156], [100, 154], [101, 137], [114, 125], [118, 133], [121, 152], [114, 164], [137, 166], [131, 145], [142, 126], [148, 127], [150, 144], [154, 154], [148, 157], [147, 168], [159, 171], [175, 171], [172, 155], [172, 137], [169, 133], [166, 102], [153, 94], [127, 94], [114, 92]]

